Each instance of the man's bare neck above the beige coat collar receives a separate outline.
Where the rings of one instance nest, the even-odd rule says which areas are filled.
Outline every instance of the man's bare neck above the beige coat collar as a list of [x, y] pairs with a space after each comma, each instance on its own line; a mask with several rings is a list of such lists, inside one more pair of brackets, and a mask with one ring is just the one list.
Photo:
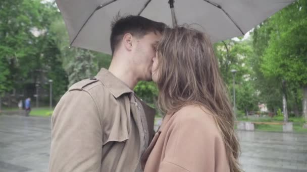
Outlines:
[[138, 79], [128, 62], [120, 62], [119, 60], [113, 59], [109, 71], [128, 85], [131, 90], [134, 89], [138, 82]]

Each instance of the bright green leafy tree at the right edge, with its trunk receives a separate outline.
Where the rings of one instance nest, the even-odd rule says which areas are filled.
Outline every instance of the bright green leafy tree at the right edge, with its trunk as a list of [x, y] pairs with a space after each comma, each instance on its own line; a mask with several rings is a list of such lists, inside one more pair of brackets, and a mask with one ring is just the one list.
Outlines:
[[[296, 1], [268, 21], [272, 31], [264, 55], [262, 71], [290, 84], [300, 85], [307, 95], [307, 2]], [[307, 96], [303, 96], [307, 120]]]

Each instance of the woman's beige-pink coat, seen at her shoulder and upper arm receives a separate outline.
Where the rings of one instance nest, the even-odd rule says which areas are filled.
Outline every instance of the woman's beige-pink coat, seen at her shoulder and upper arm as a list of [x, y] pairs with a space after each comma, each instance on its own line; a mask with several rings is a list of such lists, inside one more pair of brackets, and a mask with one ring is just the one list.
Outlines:
[[228, 172], [225, 145], [211, 113], [186, 106], [166, 115], [142, 157], [144, 172]]

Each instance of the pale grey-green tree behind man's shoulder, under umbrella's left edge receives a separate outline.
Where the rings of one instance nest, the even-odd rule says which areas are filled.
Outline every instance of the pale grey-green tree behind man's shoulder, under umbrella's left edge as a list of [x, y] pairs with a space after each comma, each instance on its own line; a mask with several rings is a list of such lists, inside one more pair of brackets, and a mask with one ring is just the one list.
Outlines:
[[109, 54], [69, 47], [68, 33], [60, 14], [52, 23], [50, 30], [55, 35], [55, 43], [61, 52], [60, 59], [68, 75], [69, 86], [82, 79], [94, 76], [101, 67], [109, 67], [111, 63]]

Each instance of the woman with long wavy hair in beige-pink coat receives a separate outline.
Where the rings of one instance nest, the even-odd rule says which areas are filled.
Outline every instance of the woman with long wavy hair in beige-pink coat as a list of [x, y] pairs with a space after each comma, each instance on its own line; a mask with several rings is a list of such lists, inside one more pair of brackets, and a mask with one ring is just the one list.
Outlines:
[[166, 115], [143, 155], [144, 172], [241, 171], [234, 115], [208, 37], [166, 29], [152, 80]]

